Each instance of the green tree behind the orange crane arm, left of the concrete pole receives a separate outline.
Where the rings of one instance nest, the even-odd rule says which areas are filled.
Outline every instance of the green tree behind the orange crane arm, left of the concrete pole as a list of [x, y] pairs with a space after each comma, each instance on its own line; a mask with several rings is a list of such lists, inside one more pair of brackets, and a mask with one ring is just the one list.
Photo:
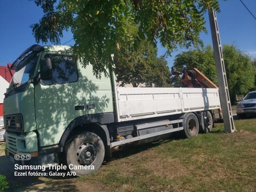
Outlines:
[[213, 83], [218, 84], [214, 54], [211, 45], [207, 45], [204, 49], [189, 50], [177, 54], [173, 66], [180, 72], [182, 72], [184, 68], [198, 68], [198, 70]]

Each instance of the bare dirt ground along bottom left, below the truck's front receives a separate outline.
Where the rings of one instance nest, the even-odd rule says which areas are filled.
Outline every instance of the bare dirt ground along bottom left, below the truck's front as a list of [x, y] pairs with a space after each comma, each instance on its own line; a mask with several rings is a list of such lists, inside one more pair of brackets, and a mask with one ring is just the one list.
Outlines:
[[14, 164], [9, 161], [8, 157], [4, 156], [3, 145], [0, 145], [0, 162], [0, 174], [5, 175], [9, 183], [9, 188], [6, 191], [111, 191], [100, 184], [92, 184], [77, 177], [52, 179], [51, 177], [14, 176]]

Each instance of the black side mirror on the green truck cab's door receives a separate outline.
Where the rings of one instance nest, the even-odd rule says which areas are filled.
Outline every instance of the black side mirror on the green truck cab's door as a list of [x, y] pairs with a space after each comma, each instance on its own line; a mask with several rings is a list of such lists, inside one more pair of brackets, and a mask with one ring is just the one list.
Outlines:
[[52, 61], [51, 58], [44, 58], [40, 61], [40, 76], [44, 81], [52, 80]]

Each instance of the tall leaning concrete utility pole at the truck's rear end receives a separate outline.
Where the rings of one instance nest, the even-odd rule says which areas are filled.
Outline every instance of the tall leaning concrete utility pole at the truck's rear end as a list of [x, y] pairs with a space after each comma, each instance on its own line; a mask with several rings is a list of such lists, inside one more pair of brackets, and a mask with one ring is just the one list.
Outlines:
[[218, 83], [220, 88], [220, 102], [221, 102], [225, 132], [234, 132], [236, 131], [236, 128], [234, 125], [232, 109], [230, 104], [230, 97], [228, 93], [227, 76], [226, 76], [226, 70], [225, 70], [225, 65], [223, 60], [223, 53], [221, 49], [220, 33], [218, 29], [216, 12], [214, 9], [211, 9], [211, 10], [208, 10], [208, 13], [209, 13], [210, 26], [211, 26], [212, 45], [213, 45], [213, 51], [214, 51], [214, 57], [215, 57], [215, 65], [217, 69], [217, 77], [218, 77]]

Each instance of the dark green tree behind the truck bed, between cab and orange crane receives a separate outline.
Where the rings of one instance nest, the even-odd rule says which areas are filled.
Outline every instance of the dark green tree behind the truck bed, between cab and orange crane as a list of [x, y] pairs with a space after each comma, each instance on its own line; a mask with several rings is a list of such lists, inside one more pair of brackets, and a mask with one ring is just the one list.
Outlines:
[[[135, 36], [138, 28], [129, 26], [128, 33]], [[170, 69], [164, 56], [157, 58], [157, 47], [148, 40], [143, 40], [134, 49], [132, 41], [127, 42], [115, 56], [117, 81], [124, 84], [146, 86], [170, 86]]]

